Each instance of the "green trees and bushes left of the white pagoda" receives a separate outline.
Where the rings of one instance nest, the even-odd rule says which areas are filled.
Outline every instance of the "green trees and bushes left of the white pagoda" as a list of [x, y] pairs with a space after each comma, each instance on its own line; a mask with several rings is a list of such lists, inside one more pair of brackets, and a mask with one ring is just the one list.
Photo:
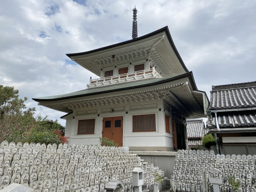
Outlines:
[[57, 120], [48, 120], [40, 115], [34, 117], [35, 108], [27, 108], [19, 90], [0, 85], [0, 142], [64, 143], [65, 127]]

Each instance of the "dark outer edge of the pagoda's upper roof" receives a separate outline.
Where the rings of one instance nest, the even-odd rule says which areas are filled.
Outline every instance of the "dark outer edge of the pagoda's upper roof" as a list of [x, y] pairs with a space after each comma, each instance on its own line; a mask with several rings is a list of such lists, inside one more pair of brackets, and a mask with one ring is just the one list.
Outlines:
[[180, 64], [182, 65], [183, 69], [185, 72], [189, 72], [187, 67], [185, 66], [183, 60], [181, 59], [181, 56], [180, 54], [178, 53], [178, 50], [176, 49], [176, 46], [174, 45], [174, 42], [173, 42], [173, 39], [171, 37], [171, 34], [170, 34], [170, 31], [169, 31], [169, 28], [168, 26], [165, 26], [161, 29], [158, 29], [152, 33], [149, 33], [149, 34], [146, 34], [146, 35], [143, 35], [141, 37], [138, 37], [138, 38], [135, 38], [135, 39], [131, 39], [131, 40], [128, 40], [128, 41], [124, 41], [124, 42], [120, 42], [120, 43], [117, 43], [117, 44], [113, 44], [113, 45], [109, 45], [109, 46], [105, 46], [105, 47], [102, 47], [102, 48], [98, 48], [98, 49], [94, 49], [94, 50], [90, 50], [90, 51], [87, 51], [87, 52], [80, 52], [80, 53], [68, 53], [66, 54], [70, 59], [72, 59], [72, 57], [76, 57], [76, 56], [81, 56], [81, 55], [86, 55], [86, 54], [91, 54], [91, 53], [96, 53], [96, 52], [100, 52], [102, 50], [107, 50], [107, 49], [111, 49], [111, 48], [117, 48], [118, 46], [121, 46], [121, 45], [126, 45], [126, 44], [131, 44], [131, 43], [134, 43], [136, 41], [140, 41], [140, 40], [143, 40], [143, 39], [146, 39], [146, 38], [149, 38], [149, 37], [152, 37], [156, 34], [159, 34], [159, 33], [162, 33], [162, 32], [165, 32], [167, 38], [168, 38], [168, 41], [170, 43], [170, 45], [172, 46], [173, 48], [173, 51], [175, 52], [178, 60], [180, 61]]

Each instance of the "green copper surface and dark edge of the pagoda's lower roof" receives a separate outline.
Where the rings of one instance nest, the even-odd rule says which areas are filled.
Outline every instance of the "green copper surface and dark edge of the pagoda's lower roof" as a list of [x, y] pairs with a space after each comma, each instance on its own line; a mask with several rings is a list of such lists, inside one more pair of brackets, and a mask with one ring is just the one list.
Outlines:
[[[32, 98], [34, 101], [56, 101], [60, 99], [68, 99], [68, 98], [74, 98], [74, 97], [83, 97], [87, 95], [95, 95], [100, 93], [109, 93], [113, 91], [120, 91], [120, 90], [127, 90], [127, 89], [135, 89], [138, 87], [145, 87], [145, 86], [151, 86], [154, 84], [161, 84], [165, 82], [169, 82], [172, 80], [184, 78], [186, 76], [189, 76], [193, 79], [192, 72], [188, 72], [186, 74], [182, 74], [176, 77], [172, 78], [151, 78], [151, 79], [145, 79], [145, 80], [135, 80], [132, 82], [127, 83], [119, 83], [119, 84], [113, 84], [108, 86], [101, 86], [101, 87], [95, 87], [95, 88], [88, 88], [80, 91], [76, 91], [73, 93], [67, 93], [62, 95], [54, 95], [54, 96], [48, 96], [48, 97], [38, 97], [38, 98]], [[192, 82], [191, 82], [192, 83]], [[193, 83], [194, 81], [193, 81]], [[195, 86], [194, 86], [195, 87]], [[195, 87], [197, 90], [197, 88]]]

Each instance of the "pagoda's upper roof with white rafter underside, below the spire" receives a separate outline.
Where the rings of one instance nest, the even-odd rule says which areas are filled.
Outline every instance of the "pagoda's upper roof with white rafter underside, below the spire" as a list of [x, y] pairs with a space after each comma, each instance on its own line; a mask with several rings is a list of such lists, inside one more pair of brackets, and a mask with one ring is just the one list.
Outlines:
[[[113, 55], [115, 55], [114, 58]], [[67, 54], [67, 56], [98, 76], [104, 66], [132, 62], [143, 56], [150, 56], [166, 77], [189, 72], [173, 43], [167, 26], [142, 37], [87, 52]]]

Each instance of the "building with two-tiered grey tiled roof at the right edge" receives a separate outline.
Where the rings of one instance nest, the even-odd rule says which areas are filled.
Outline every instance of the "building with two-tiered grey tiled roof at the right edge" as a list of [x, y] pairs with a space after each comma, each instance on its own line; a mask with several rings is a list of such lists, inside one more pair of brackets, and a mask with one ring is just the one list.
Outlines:
[[221, 153], [256, 153], [256, 81], [212, 86], [209, 110]]

